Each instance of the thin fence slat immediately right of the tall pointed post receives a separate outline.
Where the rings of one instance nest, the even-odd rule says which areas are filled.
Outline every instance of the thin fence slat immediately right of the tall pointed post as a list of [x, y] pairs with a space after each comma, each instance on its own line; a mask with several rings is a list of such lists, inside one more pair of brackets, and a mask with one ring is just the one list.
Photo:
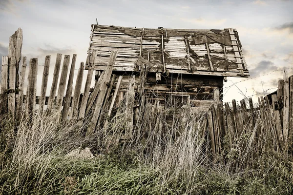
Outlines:
[[25, 77], [25, 71], [26, 71], [26, 57], [22, 58], [22, 65], [21, 65], [21, 76], [20, 76], [20, 82], [19, 82], [19, 100], [16, 107], [16, 116], [18, 120], [21, 119], [22, 115], [22, 106], [23, 106], [23, 85], [24, 85], [24, 77]]

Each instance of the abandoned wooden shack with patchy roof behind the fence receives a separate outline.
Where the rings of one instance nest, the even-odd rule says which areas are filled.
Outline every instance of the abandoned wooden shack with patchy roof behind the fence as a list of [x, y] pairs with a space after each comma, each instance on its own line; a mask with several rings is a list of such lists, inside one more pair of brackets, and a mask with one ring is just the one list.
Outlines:
[[[123, 98], [129, 79], [135, 75], [136, 94], [144, 90], [153, 102], [206, 108], [222, 100], [227, 77], [249, 77], [241, 47], [232, 28], [149, 29], [92, 24], [85, 69], [96, 70], [98, 77], [111, 51], [118, 50], [113, 74], [123, 75], [119, 97]], [[93, 50], [98, 51], [97, 56], [89, 60]]]

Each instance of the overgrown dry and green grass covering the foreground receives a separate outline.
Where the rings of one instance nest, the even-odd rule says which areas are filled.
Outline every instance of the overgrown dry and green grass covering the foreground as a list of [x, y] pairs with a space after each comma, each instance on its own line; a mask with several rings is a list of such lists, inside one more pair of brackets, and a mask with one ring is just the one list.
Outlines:
[[[273, 152], [272, 121], [254, 117], [254, 126], [214, 160], [206, 113], [188, 107], [154, 114], [146, 104], [133, 136], [122, 140], [126, 116], [120, 108], [107, 127], [84, 137], [76, 121], [54, 116], [24, 118], [14, 131], [1, 118], [1, 194], [251, 195], [291, 194], [293, 161]], [[121, 111], [121, 112], [120, 112]], [[260, 131], [260, 138], [255, 132]], [[229, 138], [227, 138], [229, 139]], [[244, 145], [245, 143], [245, 145]], [[65, 155], [88, 147], [92, 159]]]

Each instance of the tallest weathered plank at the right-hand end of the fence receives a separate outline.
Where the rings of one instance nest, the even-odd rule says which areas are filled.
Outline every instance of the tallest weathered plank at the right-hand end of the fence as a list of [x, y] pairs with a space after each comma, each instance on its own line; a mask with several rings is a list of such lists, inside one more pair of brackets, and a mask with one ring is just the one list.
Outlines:
[[284, 89], [283, 89], [283, 135], [285, 144], [287, 144], [289, 132], [289, 78], [286, 70], [283, 72]]

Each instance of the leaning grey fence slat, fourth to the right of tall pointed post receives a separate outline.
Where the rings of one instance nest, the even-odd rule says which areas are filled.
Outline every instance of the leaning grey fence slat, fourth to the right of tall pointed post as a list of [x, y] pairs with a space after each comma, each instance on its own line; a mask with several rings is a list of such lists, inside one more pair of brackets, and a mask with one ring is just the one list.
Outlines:
[[56, 95], [56, 90], [57, 90], [61, 60], [62, 60], [62, 54], [57, 54], [55, 68], [54, 68], [54, 74], [53, 74], [53, 81], [52, 81], [50, 96], [48, 99], [48, 109], [47, 109], [48, 114], [51, 112], [51, 110], [53, 108], [54, 101], [55, 101], [55, 95]]

